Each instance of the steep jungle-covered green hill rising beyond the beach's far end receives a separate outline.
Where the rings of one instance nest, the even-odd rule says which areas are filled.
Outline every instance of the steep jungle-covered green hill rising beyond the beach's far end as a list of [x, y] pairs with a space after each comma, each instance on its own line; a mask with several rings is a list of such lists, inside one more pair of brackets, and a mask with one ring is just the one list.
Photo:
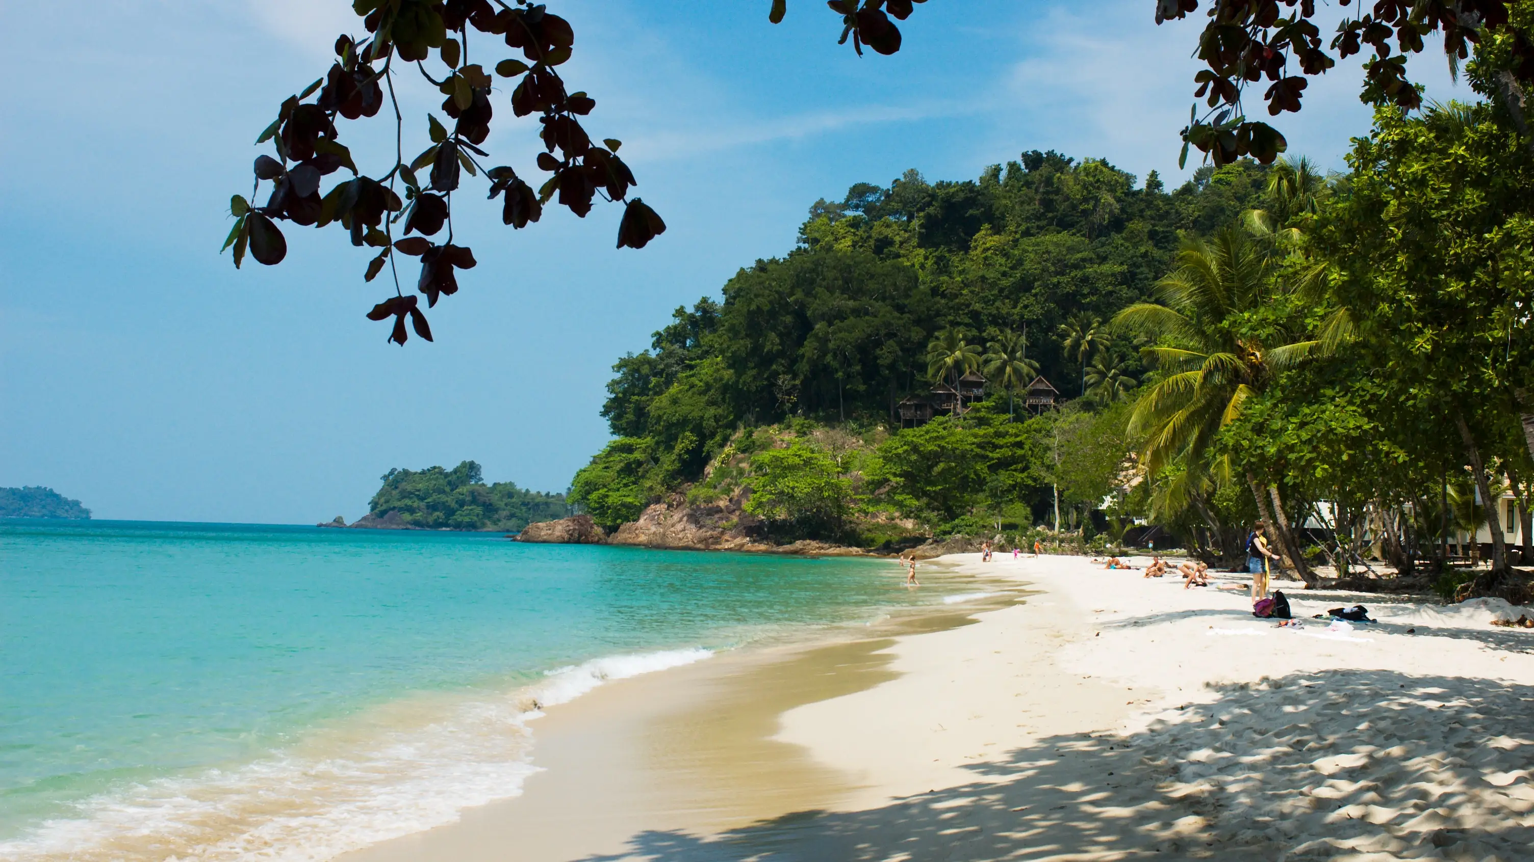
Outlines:
[[[974, 181], [913, 170], [816, 201], [796, 248], [739, 270], [723, 301], [678, 308], [650, 350], [618, 359], [603, 408], [618, 439], [577, 474], [572, 502], [612, 526], [683, 486], [723, 494], [719, 475], [738, 474], [801, 503], [756, 506], [788, 532], [871, 535], [896, 521], [939, 532], [1052, 523], [1060, 486], [1062, 523], [1091, 523], [1129, 448], [1123, 410], [1100, 416], [1144, 376], [1146, 342], [1094, 344], [1100, 368], [1083, 368], [1062, 330], [1149, 298], [1178, 244], [1256, 206], [1266, 175], [1243, 161], [1167, 192], [1154, 173], [1138, 183], [1103, 161], [1028, 152]], [[931, 390], [928, 347], [948, 328], [977, 354], [1016, 334], [1029, 379], [1034, 362], [1066, 397], [1097, 371], [1120, 383], [1043, 419], [1009, 416], [1016, 393], [991, 385], [963, 422], [890, 434], [896, 403]], [[782, 423], [805, 451], [770, 456], [770, 468], [742, 451], [762, 446], [752, 428]], [[822, 425], [867, 454], [850, 468], [811, 457], [827, 451], [808, 431]], [[1080, 446], [1057, 463], [1062, 434]]]

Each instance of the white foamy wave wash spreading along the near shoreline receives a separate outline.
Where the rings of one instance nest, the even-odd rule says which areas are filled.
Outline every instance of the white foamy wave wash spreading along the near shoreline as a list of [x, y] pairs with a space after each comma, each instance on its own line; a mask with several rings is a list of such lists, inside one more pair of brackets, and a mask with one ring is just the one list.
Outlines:
[[321, 862], [459, 819], [522, 793], [528, 721], [609, 679], [713, 655], [676, 649], [561, 667], [489, 698], [422, 696], [314, 732], [235, 768], [133, 784], [77, 804], [78, 816], [0, 841], [0, 859]]

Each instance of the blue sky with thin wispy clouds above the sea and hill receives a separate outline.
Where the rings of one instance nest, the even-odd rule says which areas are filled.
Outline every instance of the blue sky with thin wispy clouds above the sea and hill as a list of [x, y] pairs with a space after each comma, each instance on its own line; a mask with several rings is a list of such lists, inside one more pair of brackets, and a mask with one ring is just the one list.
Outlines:
[[[577, 32], [566, 80], [597, 98], [588, 127], [624, 141], [669, 230], [620, 252], [617, 207], [512, 232], [476, 204], [456, 221], [479, 267], [431, 314], [437, 342], [399, 348], [364, 319], [387, 288], [337, 229], [288, 229], [279, 267], [218, 255], [252, 141], [328, 67], [350, 3], [5, 5], [0, 485], [104, 518], [268, 523], [356, 518], [391, 466], [474, 459], [488, 480], [563, 489], [607, 439], [614, 359], [787, 252], [816, 198], [910, 167], [973, 178], [1028, 149], [1184, 176], [1198, 25], [1157, 28], [1154, 0], [933, 0], [900, 54], [862, 60], [822, 3], [790, 2], [776, 28], [767, 6], [554, 3]], [[1465, 98], [1434, 49], [1414, 66], [1430, 97]], [[1342, 167], [1368, 127], [1358, 81], [1344, 64], [1312, 84], [1281, 124], [1292, 153]], [[535, 124], [506, 95], [486, 149], [534, 173]], [[440, 95], [417, 78], [402, 97], [419, 152]], [[342, 141], [367, 172], [391, 133], [380, 115]]]

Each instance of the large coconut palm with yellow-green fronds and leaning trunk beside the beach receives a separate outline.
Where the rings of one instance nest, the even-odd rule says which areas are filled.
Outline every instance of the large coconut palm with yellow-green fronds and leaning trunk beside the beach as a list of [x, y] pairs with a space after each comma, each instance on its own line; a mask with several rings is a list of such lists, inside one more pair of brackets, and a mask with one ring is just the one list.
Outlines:
[[[1129, 433], [1141, 436], [1141, 463], [1150, 475], [1178, 459], [1207, 460], [1221, 428], [1241, 416], [1243, 405], [1267, 388], [1273, 373], [1321, 353], [1319, 341], [1269, 345], [1244, 334], [1238, 322], [1272, 298], [1273, 250], [1239, 229], [1227, 227], [1210, 241], [1186, 241], [1177, 270], [1157, 282], [1158, 302], [1138, 302], [1114, 317], [1115, 327], [1157, 339], [1141, 353], [1163, 377], [1141, 391], [1129, 417]], [[1255, 477], [1247, 475], [1258, 512], [1269, 517]], [[1269, 488], [1279, 541], [1307, 581], [1313, 580], [1293, 543], [1278, 489]]]

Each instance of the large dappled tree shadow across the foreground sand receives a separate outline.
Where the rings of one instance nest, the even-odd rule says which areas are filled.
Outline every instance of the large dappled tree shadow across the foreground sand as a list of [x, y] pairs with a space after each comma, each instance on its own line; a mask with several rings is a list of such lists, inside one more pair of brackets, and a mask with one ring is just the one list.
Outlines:
[[1012, 750], [960, 787], [638, 833], [588, 862], [1528, 857], [1534, 687], [1333, 670], [1216, 692], [1143, 733]]

